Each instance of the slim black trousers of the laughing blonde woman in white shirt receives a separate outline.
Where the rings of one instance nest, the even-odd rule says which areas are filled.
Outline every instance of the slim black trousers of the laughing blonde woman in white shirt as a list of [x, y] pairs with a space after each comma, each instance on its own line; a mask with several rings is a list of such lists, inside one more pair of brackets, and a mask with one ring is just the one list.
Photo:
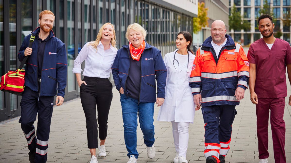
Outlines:
[[[84, 83], [80, 86], [81, 103], [86, 117], [88, 148], [98, 148], [97, 121], [99, 124], [99, 138], [107, 137], [107, 120], [112, 100], [112, 84], [106, 78], [84, 76]], [[97, 120], [96, 120], [97, 105]]]

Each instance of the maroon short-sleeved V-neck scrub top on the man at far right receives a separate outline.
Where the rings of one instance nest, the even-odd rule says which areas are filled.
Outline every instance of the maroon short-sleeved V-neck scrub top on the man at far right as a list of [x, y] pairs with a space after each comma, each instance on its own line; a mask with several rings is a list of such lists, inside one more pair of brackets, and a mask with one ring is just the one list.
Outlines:
[[286, 64], [291, 63], [291, 47], [288, 42], [277, 39], [271, 50], [263, 39], [251, 44], [249, 63], [256, 64], [255, 93], [258, 98], [287, 96]]

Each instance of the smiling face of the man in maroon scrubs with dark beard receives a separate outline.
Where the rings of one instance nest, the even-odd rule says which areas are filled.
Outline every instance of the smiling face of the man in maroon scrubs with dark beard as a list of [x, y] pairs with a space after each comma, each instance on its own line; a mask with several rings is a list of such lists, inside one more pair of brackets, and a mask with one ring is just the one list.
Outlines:
[[273, 35], [275, 25], [269, 18], [261, 19], [259, 22], [259, 30], [263, 37], [268, 38]]

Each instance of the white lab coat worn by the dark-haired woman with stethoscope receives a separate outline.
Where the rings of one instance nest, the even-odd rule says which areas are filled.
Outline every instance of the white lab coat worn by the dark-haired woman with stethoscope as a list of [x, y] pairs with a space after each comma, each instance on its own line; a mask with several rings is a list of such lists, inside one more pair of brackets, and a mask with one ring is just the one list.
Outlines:
[[[161, 106], [157, 120], [159, 121], [175, 121], [175, 122], [191, 122], [193, 123], [195, 114], [195, 104], [191, 87], [189, 86], [190, 74], [195, 59], [195, 55], [189, 52], [189, 69], [187, 72], [187, 61], [180, 64], [180, 70], [176, 70], [173, 65], [174, 52], [167, 53], [164, 63], [167, 67], [168, 74], [166, 79], [165, 102]], [[176, 53], [176, 59], [177, 57]], [[188, 59], [188, 57], [187, 57]], [[178, 59], [177, 59], [178, 60]], [[180, 62], [179, 62], [180, 63]], [[176, 66], [178, 69], [178, 67]]]

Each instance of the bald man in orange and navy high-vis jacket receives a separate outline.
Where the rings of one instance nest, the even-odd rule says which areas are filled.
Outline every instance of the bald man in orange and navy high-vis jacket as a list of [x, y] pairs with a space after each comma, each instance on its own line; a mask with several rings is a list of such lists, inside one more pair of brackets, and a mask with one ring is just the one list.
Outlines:
[[206, 163], [223, 163], [229, 151], [235, 106], [248, 88], [249, 62], [241, 45], [216, 20], [211, 36], [196, 53], [189, 86], [196, 108], [202, 105]]

